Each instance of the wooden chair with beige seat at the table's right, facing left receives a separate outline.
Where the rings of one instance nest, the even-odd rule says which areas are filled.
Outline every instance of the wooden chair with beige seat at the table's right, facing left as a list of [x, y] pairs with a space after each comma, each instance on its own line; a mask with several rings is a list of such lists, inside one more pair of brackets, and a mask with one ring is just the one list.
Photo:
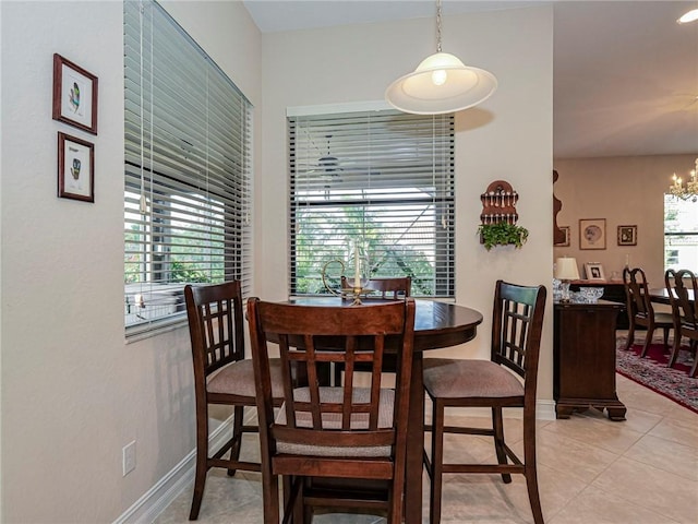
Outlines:
[[[424, 451], [431, 480], [430, 523], [441, 522], [444, 475], [501, 474], [508, 484], [516, 473], [526, 477], [533, 521], [542, 524], [535, 472], [535, 388], [545, 295], [543, 286], [497, 281], [490, 360], [424, 359], [424, 389], [433, 405], [432, 424], [425, 427], [432, 433], [431, 454]], [[446, 425], [446, 407], [490, 407], [492, 426]], [[504, 440], [503, 407], [524, 408], [524, 461]], [[497, 464], [444, 463], [444, 433], [493, 437]]]

